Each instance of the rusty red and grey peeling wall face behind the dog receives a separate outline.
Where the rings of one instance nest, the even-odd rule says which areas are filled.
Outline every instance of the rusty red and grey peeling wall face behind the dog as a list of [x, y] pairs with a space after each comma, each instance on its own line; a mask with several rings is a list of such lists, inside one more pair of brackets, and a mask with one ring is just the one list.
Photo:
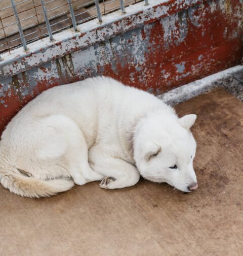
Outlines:
[[[106, 75], [157, 94], [237, 65], [243, 50], [243, 1], [198, 2], [182, 9], [174, 6], [168, 15], [131, 25], [124, 33], [104, 36], [14, 75], [5, 67], [0, 79], [0, 130], [22, 106], [52, 86]], [[122, 22], [133, 20], [126, 17]], [[99, 29], [93, 32], [98, 35]]]

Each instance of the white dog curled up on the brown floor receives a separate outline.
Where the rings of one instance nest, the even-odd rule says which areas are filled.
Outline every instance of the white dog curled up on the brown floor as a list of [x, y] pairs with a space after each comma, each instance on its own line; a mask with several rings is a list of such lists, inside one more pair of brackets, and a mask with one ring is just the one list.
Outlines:
[[7, 125], [0, 179], [25, 197], [45, 197], [101, 180], [132, 186], [140, 174], [182, 190], [197, 188], [189, 129], [196, 115], [175, 111], [145, 91], [97, 77], [38, 95]]

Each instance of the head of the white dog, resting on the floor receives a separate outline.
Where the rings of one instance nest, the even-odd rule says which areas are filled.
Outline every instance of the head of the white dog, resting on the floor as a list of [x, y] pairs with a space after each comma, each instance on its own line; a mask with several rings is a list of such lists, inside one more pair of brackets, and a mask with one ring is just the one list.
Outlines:
[[189, 192], [197, 188], [193, 169], [196, 142], [190, 127], [196, 115], [177, 118], [154, 113], [137, 126], [134, 158], [140, 174], [154, 182], [167, 182]]

